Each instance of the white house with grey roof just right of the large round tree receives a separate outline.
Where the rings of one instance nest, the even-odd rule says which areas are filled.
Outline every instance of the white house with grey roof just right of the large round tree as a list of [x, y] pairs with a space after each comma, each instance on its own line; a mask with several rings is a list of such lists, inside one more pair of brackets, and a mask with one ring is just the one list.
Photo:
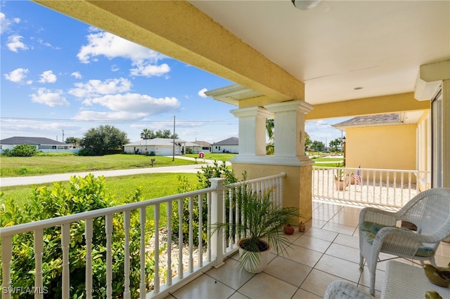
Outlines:
[[124, 153], [126, 154], [147, 154], [150, 156], [170, 156], [174, 154], [184, 154], [186, 141], [172, 138], [153, 138], [143, 139], [124, 145]]

